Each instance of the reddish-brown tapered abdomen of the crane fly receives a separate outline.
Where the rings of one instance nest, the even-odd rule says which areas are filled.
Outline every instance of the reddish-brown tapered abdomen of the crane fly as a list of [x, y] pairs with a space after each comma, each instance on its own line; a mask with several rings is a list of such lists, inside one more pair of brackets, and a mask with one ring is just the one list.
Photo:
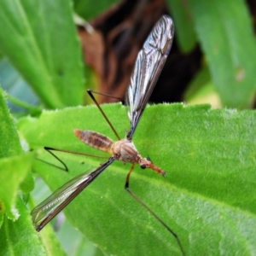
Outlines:
[[83, 143], [89, 145], [92, 148], [97, 148], [111, 154], [113, 140], [109, 137], [106, 137], [96, 131], [83, 131], [75, 129], [73, 132]]

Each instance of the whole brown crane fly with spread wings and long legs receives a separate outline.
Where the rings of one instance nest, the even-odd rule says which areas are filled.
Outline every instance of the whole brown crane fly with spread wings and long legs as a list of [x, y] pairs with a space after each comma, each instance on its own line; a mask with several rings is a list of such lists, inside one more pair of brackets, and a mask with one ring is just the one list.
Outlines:
[[[158, 215], [156, 215], [137, 195], [135, 195], [129, 188], [129, 180], [131, 172], [134, 169], [135, 164], [141, 166], [141, 168], [151, 168], [154, 172], [158, 172], [165, 176], [160, 167], [155, 166], [149, 158], [143, 158], [137, 151], [134, 143], [132, 143], [132, 137], [136, 131], [137, 124], [141, 118], [144, 108], [149, 100], [149, 97], [154, 90], [154, 85], [160, 76], [161, 70], [166, 62], [167, 55], [169, 54], [174, 35], [174, 26], [172, 19], [166, 15], [156, 23], [152, 32], [150, 32], [147, 40], [143, 44], [143, 49], [137, 55], [137, 61], [131, 74], [131, 83], [126, 92], [125, 102], [130, 106], [128, 117], [131, 122], [130, 131], [126, 134], [126, 137], [120, 139], [113, 126], [110, 124], [102, 108], [96, 102], [96, 99], [89, 91], [90, 96], [96, 102], [96, 106], [102, 112], [104, 118], [108, 121], [111, 129], [115, 135], [119, 138], [119, 141], [113, 142], [112, 139], [96, 132], [96, 131], [82, 131], [79, 129], [74, 130], [74, 134], [79, 139], [89, 145], [92, 148], [97, 148], [104, 152], [111, 154], [111, 157], [99, 166], [95, 171], [88, 173], [82, 173], [77, 177], [64, 184], [60, 189], [45, 199], [42, 203], [35, 207], [32, 214], [32, 221], [36, 227], [36, 230], [40, 231], [44, 228], [49, 221], [54, 218], [61, 210], [67, 206], [73, 199], [79, 195], [96, 177], [98, 177], [108, 166], [110, 166], [114, 160], [120, 160], [131, 163], [131, 170], [128, 172], [125, 189], [137, 200], [148, 212], [150, 212], [154, 218], [156, 218], [166, 229], [172, 233], [177, 240], [178, 246], [181, 252], [184, 254], [183, 247], [179, 241], [178, 236], [165, 224]], [[62, 149], [45, 147], [50, 154], [53, 154], [52, 150], [71, 152]], [[75, 152], [72, 152], [75, 153]], [[79, 153], [75, 153], [79, 154]], [[56, 157], [56, 156], [55, 156]], [[56, 157], [57, 158], [57, 157]], [[58, 159], [58, 158], [57, 158]], [[60, 160], [60, 159], [58, 159]], [[62, 161], [61, 161], [62, 162]], [[63, 163], [63, 162], [62, 162]], [[64, 164], [65, 165], [65, 164]]]

